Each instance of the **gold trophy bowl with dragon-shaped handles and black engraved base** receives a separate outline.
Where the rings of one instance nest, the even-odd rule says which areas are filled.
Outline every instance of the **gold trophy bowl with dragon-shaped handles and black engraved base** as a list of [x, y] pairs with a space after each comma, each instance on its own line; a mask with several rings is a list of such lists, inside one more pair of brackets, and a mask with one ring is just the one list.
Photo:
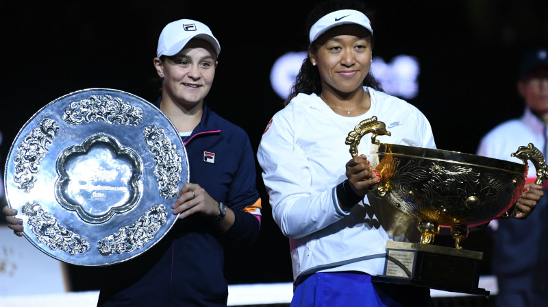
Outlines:
[[[527, 177], [527, 160], [536, 168], [536, 184], [548, 177], [543, 154], [529, 144], [510, 156], [523, 163], [498, 160], [469, 153], [379, 143], [388, 135], [377, 117], [366, 119], [349, 132], [346, 144], [352, 157], [358, 144], [371, 133], [370, 166], [381, 181], [371, 187], [373, 195], [386, 200], [417, 221], [419, 243], [386, 243], [384, 275], [375, 282], [415, 284], [446, 291], [488, 295], [477, 288], [483, 253], [464, 250], [462, 241], [469, 228], [497, 218], [513, 217]], [[389, 205], [389, 206], [390, 206]], [[450, 228], [455, 247], [436, 246], [440, 227]]]

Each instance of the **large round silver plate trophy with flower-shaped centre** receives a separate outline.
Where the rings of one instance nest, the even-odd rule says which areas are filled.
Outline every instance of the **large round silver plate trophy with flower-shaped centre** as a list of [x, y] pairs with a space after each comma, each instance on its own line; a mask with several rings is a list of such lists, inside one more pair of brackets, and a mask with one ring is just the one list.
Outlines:
[[45, 254], [114, 265], [155, 245], [188, 182], [186, 149], [151, 103], [90, 88], [48, 103], [18, 132], [5, 165], [8, 205]]

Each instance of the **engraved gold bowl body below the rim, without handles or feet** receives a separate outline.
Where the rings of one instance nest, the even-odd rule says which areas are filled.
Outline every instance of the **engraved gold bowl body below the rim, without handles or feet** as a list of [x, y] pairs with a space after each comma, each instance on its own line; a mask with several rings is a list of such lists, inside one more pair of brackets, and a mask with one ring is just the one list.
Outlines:
[[[416, 219], [440, 225], [471, 219], [475, 224], [486, 223], [500, 213], [499, 207], [512, 204], [515, 196], [514, 175], [496, 169], [390, 155], [377, 169], [382, 180], [390, 182], [391, 192], [386, 195], [390, 204]], [[471, 197], [473, 203], [469, 203]]]

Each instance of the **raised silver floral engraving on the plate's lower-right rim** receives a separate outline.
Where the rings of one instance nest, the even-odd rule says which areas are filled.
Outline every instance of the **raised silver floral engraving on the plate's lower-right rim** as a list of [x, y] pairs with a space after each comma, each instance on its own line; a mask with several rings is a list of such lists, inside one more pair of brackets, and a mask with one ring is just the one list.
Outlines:
[[162, 204], [152, 206], [132, 225], [124, 226], [119, 229], [119, 232], [100, 240], [97, 243], [99, 254], [108, 257], [114, 253], [129, 253], [142, 248], [166, 223], [166, 216], [166, 206]]

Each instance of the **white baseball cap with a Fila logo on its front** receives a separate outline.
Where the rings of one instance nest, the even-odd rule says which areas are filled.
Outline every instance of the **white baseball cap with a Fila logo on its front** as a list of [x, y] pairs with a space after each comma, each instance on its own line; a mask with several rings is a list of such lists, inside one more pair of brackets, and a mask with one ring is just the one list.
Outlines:
[[175, 56], [192, 38], [201, 38], [210, 42], [217, 56], [221, 52], [219, 41], [213, 36], [210, 28], [199, 21], [181, 19], [168, 23], [158, 39], [156, 56]]

